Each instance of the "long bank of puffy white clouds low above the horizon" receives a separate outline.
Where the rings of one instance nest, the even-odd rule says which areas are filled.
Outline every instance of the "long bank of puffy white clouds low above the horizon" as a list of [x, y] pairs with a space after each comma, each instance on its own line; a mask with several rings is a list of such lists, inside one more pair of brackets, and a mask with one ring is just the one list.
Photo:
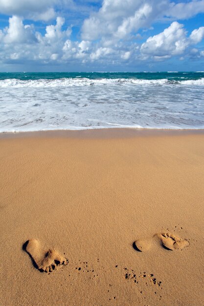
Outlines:
[[13, 16], [9, 19], [9, 27], [0, 32], [0, 58], [2, 61], [28, 60], [44, 64], [75, 61], [78, 64], [96, 62], [120, 65], [148, 58], [163, 61], [177, 55], [185, 57], [186, 52], [194, 59], [202, 57], [202, 52], [189, 47], [204, 38], [204, 27], [193, 30], [187, 36], [181, 23], [172, 22], [163, 32], [149, 37], [141, 45], [135, 41], [130, 41], [128, 45], [124, 41], [111, 44], [110, 40], [104, 46], [103, 40], [97, 44], [86, 40], [71, 41], [71, 29], [63, 30], [64, 22], [64, 18], [58, 17], [55, 24], [46, 26], [45, 35], [42, 35], [35, 32], [34, 26], [24, 25], [20, 17]]

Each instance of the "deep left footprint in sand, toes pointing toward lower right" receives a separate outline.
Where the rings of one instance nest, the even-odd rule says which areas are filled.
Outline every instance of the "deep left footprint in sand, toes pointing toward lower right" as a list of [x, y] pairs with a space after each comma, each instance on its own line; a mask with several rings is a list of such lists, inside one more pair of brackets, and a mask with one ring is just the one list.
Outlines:
[[43, 250], [36, 239], [27, 240], [23, 244], [23, 250], [28, 253], [33, 265], [41, 272], [49, 273], [68, 264], [68, 259], [61, 256], [56, 250]]

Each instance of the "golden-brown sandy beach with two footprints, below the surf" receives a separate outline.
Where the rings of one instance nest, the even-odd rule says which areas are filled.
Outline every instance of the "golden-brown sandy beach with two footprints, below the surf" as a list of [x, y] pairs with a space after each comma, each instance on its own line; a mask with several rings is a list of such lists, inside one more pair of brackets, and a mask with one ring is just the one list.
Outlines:
[[204, 132], [1, 134], [0, 233], [2, 306], [204, 305]]

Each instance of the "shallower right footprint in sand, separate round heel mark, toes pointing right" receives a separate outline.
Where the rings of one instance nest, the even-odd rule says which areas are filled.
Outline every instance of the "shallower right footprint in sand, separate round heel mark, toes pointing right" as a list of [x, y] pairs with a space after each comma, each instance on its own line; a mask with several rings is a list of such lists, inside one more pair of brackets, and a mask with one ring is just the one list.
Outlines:
[[160, 244], [168, 250], [182, 250], [189, 245], [186, 239], [182, 239], [170, 233], [161, 233], [153, 236], [152, 239], [138, 239], [133, 243], [133, 247], [140, 252], [147, 251], [152, 246], [153, 240], [159, 240]]

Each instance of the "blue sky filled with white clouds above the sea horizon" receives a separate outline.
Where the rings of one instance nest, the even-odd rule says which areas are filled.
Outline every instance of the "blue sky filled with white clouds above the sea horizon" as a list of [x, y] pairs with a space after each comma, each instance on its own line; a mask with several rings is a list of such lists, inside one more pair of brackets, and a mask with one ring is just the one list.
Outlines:
[[204, 71], [204, 0], [0, 0], [6, 71]]

